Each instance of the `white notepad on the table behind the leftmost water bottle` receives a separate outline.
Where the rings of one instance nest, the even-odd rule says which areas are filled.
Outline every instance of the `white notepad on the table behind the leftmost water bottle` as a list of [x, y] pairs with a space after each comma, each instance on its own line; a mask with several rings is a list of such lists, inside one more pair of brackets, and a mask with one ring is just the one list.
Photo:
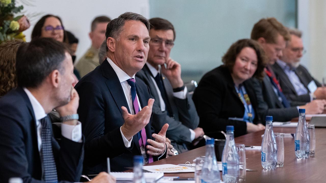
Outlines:
[[[163, 173], [152, 173], [152, 172], [144, 172], [144, 177], [146, 182], [155, 182], [156, 180], [163, 177]], [[111, 176], [114, 176], [117, 181], [132, 181], [134, 178], [133, 172], [111, 172]]]

